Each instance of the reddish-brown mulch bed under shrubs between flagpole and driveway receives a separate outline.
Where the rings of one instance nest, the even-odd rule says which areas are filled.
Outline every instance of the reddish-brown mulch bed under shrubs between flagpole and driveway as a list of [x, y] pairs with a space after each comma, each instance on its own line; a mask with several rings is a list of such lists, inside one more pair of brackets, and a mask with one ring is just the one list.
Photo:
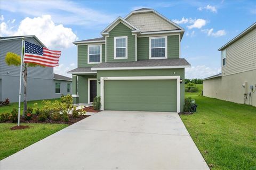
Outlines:
[[[57, 123], [57, 124], [74, 124], [78, 121], [81, 121], [83, 120], [84, 118], [86, 117], [89, 117], [89, 115], [80, 115], [78, 117], [73, 117], [73, 115], [68, 115], [68, 122], [65, 122], [63, 120], [60, 120], [60, 121], [53, 121], [53, 120], [50, 120], [50, 119], [46, 119], [44, 122], [41, 122], [41, 121], [38, 121], [38, 116], [33, 114], [32, 117], [31, 117], [31, 120], [29, 121], [26, 121], [23, 117], [20, 117], [20, 123]], [[4, 122], [4, 123], [12, 123], [11, 121], [7, 121], [7, 122]]]

